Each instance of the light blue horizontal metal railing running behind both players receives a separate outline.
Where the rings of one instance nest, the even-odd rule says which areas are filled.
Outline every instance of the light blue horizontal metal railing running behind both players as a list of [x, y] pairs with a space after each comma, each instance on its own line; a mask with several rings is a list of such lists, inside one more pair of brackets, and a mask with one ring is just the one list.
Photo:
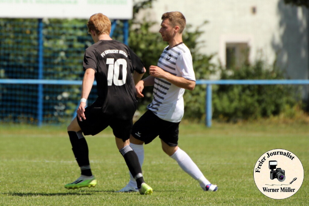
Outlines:
[[[49, 85], [82, 85], [82, 80], [55, 80], [55, 79], [0, 79], [0, 84], [49, 84]], [[244, 80], [204, 80], [200, 79], [196, 81], [196, 84], [206, 84], [206, 103], [205, 103], [205, 124], [207, 127], [211, 127], [212, 120], [212, 85], [213, 84], [295, 84], [305, 85], [309, 84], [309, 79], [244, 79]], [[96, 82], [94, 82], [96, 85]], [[39, 113], [42, 115], [42, 112]], [[38, 120], [42, 120], [43, 117], [39, 117]], [[42, 122], [38, 122], [40, 125]]]

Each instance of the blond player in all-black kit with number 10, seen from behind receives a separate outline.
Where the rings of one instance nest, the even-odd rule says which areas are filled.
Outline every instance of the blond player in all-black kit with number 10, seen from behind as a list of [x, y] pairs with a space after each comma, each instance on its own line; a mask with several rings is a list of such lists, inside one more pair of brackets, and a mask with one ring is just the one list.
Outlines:
[[[135, 84], [146, 69], [140, 58], [127, 45], [110, 38], [111, 22], [107, 16], [101, 13], [92, 15], [87, 27], [95, 43], [85, 52], [85, 74], [77, 118], [74, 118], [67, 128], [81, 176], [66, 184], [65, 188], [94, 187], [97, 184], [91, 172], [88, 146], [83, 134], [96, 135], [110, 126], [117, 148], [138, 182], [140, 194], [151, 195], [152, 188], [145, 183], [138, 157], [129, 145], [132, 119], [137, 106]], [[92, 105], [85, 108], [94, 78], [98, 97]]]

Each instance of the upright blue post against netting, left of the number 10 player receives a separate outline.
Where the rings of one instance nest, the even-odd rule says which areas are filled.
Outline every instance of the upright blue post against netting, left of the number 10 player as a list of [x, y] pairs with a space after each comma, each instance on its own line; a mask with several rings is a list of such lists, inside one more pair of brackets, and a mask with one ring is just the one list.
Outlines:
[[[38, 19], [38, 79], [43, 79], [43, 22]], [[38, 84], [38, 126], [43, 122], [43, 84]]]

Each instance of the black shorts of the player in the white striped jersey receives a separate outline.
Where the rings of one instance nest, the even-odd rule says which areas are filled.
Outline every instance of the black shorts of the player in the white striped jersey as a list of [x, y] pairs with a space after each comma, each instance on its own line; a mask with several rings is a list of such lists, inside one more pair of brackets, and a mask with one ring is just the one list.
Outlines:
[[145, 142], [145, 144], [150, 143], [159, 136], [166, 144], [175, 147], [178, 145], [179, 123], [160, 119], [152, 111], [147, 110], [134, 123], [131, 135]]

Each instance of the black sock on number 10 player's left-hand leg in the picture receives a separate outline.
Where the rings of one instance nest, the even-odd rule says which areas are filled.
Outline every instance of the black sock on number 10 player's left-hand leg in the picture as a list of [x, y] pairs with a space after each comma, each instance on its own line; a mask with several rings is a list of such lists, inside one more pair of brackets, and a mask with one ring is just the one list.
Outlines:
[[72, 150], [78, 166], [81, 167], [81, 174], [91, 176], [91, 169], [88, 156], [88, 145], [81, 131], [74, 132], [68, 131], [70, 142], [72, 144]]

